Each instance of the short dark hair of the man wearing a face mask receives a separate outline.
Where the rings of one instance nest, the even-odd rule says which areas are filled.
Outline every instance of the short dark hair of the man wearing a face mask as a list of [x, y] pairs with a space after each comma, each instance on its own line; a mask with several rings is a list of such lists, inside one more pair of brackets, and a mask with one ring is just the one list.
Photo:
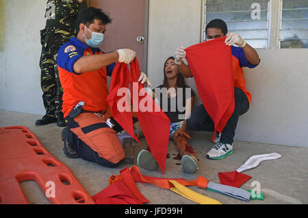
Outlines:
[[80, 30], [79, 25], [81, 23], [84, 23], [84, 25], [88, 26], [94, 23], [95, 19], [101, 21], [104, 25], [112, 23], [112, 19], [110, 18], [110, 16], [105, 14], [101, 9], [93, 7], [85, 8], [84, 10], [81, 10], [81, 12], [79, 12], [79, 15], [77, 17], [76, 21], [77, 34], [79, 33]]

